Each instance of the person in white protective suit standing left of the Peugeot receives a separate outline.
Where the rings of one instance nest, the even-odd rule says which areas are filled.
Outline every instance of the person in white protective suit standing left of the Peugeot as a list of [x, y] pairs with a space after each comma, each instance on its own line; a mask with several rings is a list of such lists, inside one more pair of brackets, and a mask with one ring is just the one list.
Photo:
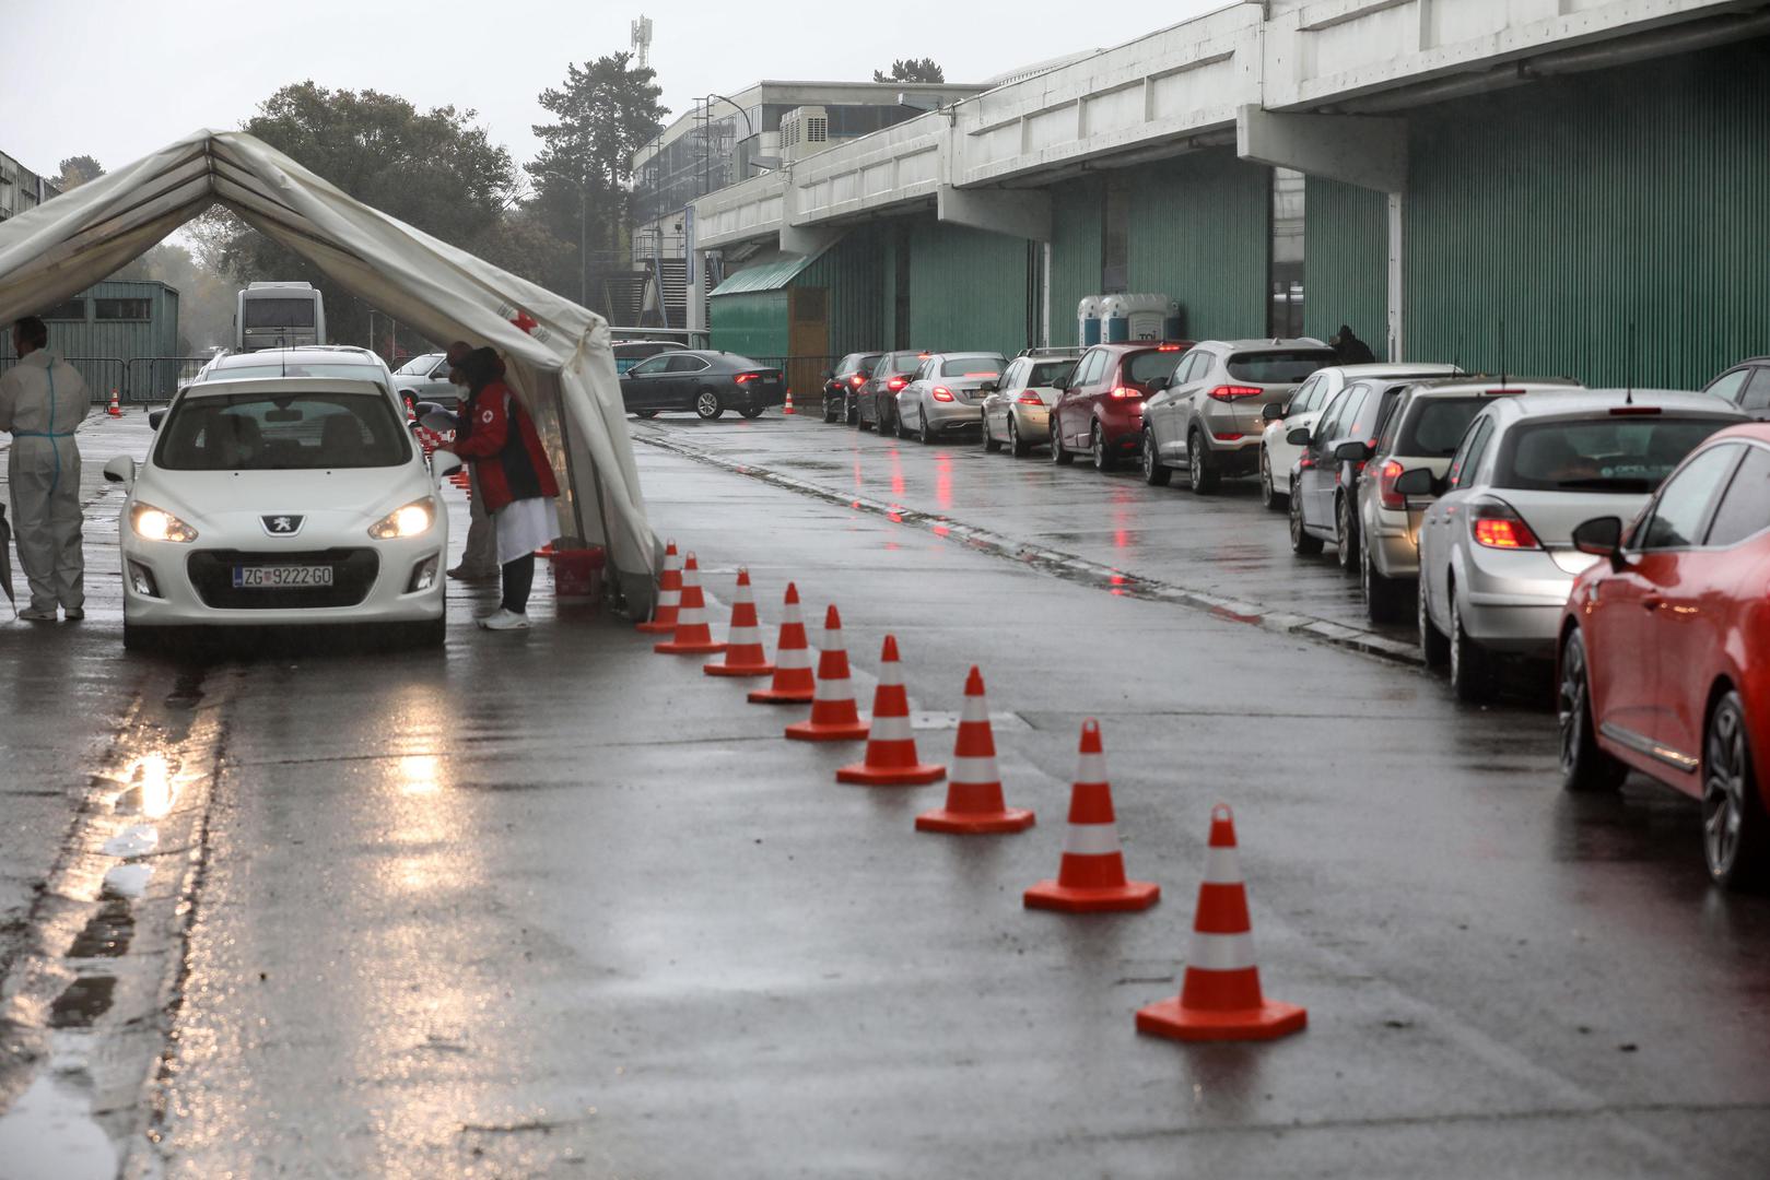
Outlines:
[[44, 322], [25, 317], [12, 326], [19, 361], [0, 375], [0, 430], [12, 433], [12, 543], [30, 582], [30, 607], [18, 617], [34, 623], [53, 623], [57, 605], [67, 619], [87, 614], [74, 428], [90, 403], [87, 382], [48, 345]]

